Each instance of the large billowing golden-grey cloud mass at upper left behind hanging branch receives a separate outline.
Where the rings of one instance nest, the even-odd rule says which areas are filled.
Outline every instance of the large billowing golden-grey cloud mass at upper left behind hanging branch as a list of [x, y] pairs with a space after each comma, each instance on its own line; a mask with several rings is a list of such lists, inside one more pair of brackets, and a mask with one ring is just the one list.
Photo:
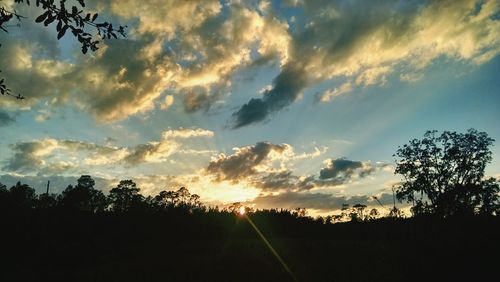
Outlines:
[[[102, 42], [95, 54], [70, 60], [62, 60], [58, 53], [40, 55], [58, 50], [55, 35], [47, 32], [43, 38], [53, 40], [44, 44], [54, 48], [40, 46], [25, 33], [6, 40], [1, 63], [12, 88], [29, 97], [27, 105], [53, 98], [51, 103], [70, 103], [99, 122], [123, 120], [157, 105], [166, 110], [174, 95], [183, 100], [187, 112], [208, 110], [228, 94], [231, 77], [251, 65], [254, 55], [280, 64], [289, 56], [286, 21], [252, 5], [216, 0], [89, 5], [120, 22], [137, 20], [128, 38]], [[155, 103], [158, 99], [163, 102]]]

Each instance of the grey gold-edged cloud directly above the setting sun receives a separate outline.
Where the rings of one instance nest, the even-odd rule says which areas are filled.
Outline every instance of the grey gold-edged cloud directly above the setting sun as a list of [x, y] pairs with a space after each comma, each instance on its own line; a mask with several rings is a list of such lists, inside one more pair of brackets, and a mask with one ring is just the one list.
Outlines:
[[212, 175], [215, 181], [228, 180], [236, 183], [257, 174], [255, 167], [262, 164], [271, 152], [282, 153], [287, 148], [289, 146], [286, 144], [259, 142], [254, 146], [239, 148], [233, 155], [220, 155], [208, 164], [206, 172]]

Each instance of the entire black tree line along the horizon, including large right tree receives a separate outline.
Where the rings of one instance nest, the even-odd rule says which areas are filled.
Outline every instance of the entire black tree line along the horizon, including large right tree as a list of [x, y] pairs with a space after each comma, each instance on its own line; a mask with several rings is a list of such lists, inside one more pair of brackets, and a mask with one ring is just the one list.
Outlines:
[[[393, 187], [393, 195], [399, 202], [410, 203], [414, 217], [436, 216], [440, 218], [464, 216], [495, 216], [500, 213], [500, 187], [498, 180], [485, 177], [485, 168], [492, 160], [490, 147], [494, 140], [485, 132], [470, 129], [466, 133], [445, 131], [437, 135], [428, 131], [421, 140], [414, 139], [396, 154], [395, 173], [403, 181]], [[373, 197], [378, 202], [376, 197]], [[378, 202], [381, 204], [380, 202]], [[382, 204], [381, 204], [382, 205]], [[69, 185], [61, 194], [43, 193], [18, 182], [7, 189], [0, 183], [0, 209], [43, 210], [64, 209], [91, 214], [96, 213], [158, 213], [181, 210], [189, 213], [219, 211], [200, 201], [185, 187], [173, 191], [161, 191], [157, 195], [144, 196], [132, 180], [121, 180], [105, 195], [95, 188], [90, 175], [82, 175], [75, 186]], [[322, 223], [369, 221], [380, 217], [404, 217], [404, 212], [394, 203], [385, 208], [367, 209], [365, 204], [343, 204], [339, 214], [318, 217]], [[233, 203], [221, 209], [230, 213], [252, 213], [252, 208]], [[276, 209], [271, 211], [278, 211]], [[306, 217], [307, 210], [282, 209], [293, 217]]]

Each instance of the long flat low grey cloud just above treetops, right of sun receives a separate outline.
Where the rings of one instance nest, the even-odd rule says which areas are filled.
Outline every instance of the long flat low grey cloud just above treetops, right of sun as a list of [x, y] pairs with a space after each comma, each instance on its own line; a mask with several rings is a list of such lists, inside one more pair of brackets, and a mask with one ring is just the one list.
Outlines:
[[[384, 193], [378, 195], [379, 201], [386, 207], [392, 204], [392, 195]], [[342, 207], [342, 204], [363, 204], [367, 206], [378, 205], [370, 195], [358, 196], [335, 196], [331, 194], [309, 193], [309, 192], [286, 192], [278, 195], [261, 195], [248, 204], [255, 204], [259, 208], [286, 208], [295, 209], [298, 207], [316, 209], [321, 211], [333, 211]], [[380, 207], [380, 206], [378, 206]]]

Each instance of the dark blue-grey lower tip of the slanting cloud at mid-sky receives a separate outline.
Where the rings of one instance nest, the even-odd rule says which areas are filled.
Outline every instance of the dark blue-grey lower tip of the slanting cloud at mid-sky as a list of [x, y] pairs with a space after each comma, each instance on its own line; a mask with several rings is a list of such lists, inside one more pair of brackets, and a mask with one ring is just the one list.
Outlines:
[[239, 128], [263, 122], [271, 114], [293, 103], [307, 86], [307, 75], [301, 68], [288, 65], [274, 79], [273, 88], [264, 92], [262, 98], [252, 98], [233, 113], [232, 127]]

